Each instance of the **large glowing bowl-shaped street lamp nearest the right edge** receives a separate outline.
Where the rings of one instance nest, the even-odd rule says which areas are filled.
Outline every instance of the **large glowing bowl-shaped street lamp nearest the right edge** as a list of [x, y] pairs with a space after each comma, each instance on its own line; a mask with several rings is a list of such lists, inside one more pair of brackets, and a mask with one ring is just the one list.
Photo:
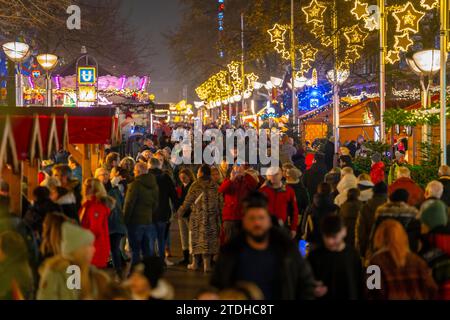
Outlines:
[[[446, 56], [445, 61], [447, 61]], [[436, 49], [422, 50], [414, 53], [412, 55], [412, 58], [407, 58], [406, 62], [408, 63], [411, 70], [415, 74], [420, 76], [420, 84], [423, 91], [422, 105], [425, 107], [425, 109], [428, 109], [430, 107], [430, 87], [433, 84], [433, 76], [441, 68], [440, 51]], [[428, 77], [428, 82], [426, 85], [425, 77]], [[443, 90], [445, 90], [445, 88]], [[429, 131], [430, 127], [428, 125], [424, 125], [422, 129], [422, 141], [428, 141]]]

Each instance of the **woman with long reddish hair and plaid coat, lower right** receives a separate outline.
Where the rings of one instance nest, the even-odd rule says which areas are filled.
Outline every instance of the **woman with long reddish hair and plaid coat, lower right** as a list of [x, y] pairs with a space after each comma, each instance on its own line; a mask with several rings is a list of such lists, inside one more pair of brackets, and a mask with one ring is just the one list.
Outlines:
[[[408, 235], [394, 219], [383, 221], [374, 237], [375, 254], [369, 265], [381, 270], [381, 288], [369, 290], [371, 299], [433, 299], [437, 285], [426, 262], [409, 249]], [[371, 275], [369, 275], [370, 277]]]

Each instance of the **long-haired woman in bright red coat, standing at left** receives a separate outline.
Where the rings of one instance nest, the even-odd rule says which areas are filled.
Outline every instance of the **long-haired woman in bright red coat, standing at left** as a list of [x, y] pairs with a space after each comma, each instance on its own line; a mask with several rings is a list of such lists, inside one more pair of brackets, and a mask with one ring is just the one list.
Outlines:
[[83, 184], [83, 205], [79, 212], [81, 226], [95, 235], [95, 254], [92, 264], [106, 268], [111, 251], [108, 218], [115, 201], [108, 196], [103, 183], [98, 179], [87, 179]]

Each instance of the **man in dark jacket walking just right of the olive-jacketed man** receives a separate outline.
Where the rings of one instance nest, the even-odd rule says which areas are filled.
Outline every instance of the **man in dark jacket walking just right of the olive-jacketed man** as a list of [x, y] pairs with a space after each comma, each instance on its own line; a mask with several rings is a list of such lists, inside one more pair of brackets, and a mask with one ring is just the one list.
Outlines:
[[158, 206], [153, 212], [153, 232], [150, 242], [152, 247], [155, 242], [158, 242], [159, 256], [164, 258], [168, 225], [172, 216], [170, 203], [172, 202], [173, 209], [177, 209], [178, 196], [173, 180], [162, 170], [161, 161], [157, 158], [151, 158], [149, 166], [149, 173], [155, 176], [159, 188]]

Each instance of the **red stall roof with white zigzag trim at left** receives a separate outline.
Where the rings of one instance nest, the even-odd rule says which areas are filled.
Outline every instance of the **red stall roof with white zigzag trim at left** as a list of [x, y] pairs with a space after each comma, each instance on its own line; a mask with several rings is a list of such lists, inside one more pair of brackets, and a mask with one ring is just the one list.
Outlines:
[[[115, 108], [0, 108], [0, 162], [46, 159], [67, 144], [108, 144], [117, 138]], [[15, 168], [17, 169], [17, 168]]]

